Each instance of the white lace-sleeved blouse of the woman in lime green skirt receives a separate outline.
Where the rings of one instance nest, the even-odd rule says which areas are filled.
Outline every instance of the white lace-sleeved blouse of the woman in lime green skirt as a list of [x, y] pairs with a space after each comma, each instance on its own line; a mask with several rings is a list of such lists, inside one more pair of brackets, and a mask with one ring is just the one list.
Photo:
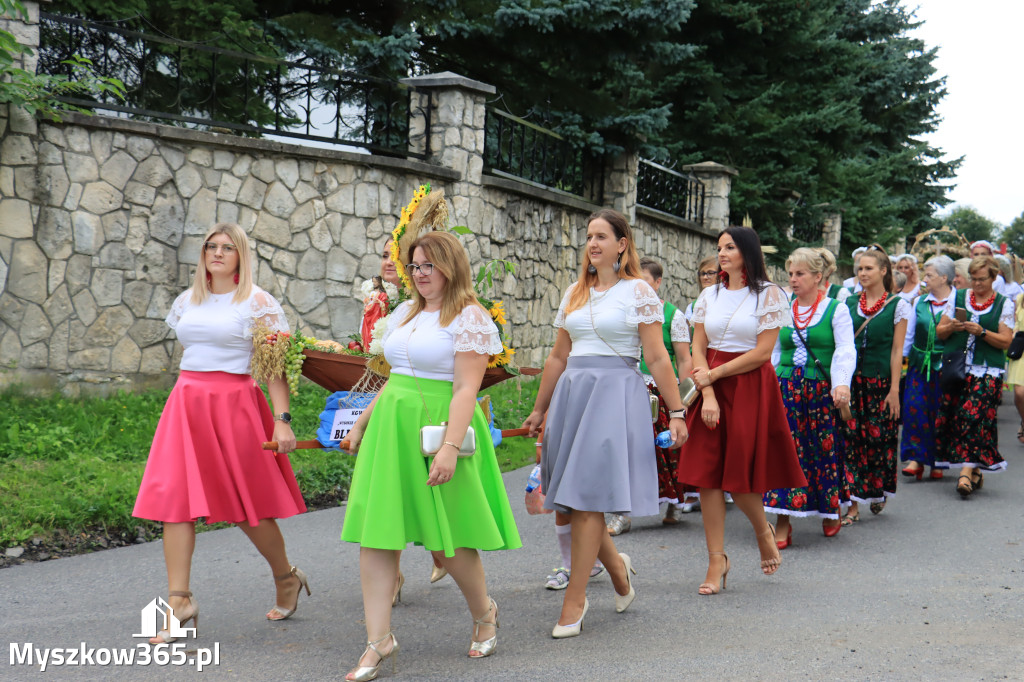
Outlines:
[[388, 317], [382, 345], [392, 374], [411, 377], [415, 371], [420, 379], [454, 381], [456, 353], [496, 355], [502, 351], [498, 327], [479, 305], [467, 305], [446, 327], [440, 326], [440, 310], [423, 310], [402, 325], [412, 310], [413, 301], [406, 301]]

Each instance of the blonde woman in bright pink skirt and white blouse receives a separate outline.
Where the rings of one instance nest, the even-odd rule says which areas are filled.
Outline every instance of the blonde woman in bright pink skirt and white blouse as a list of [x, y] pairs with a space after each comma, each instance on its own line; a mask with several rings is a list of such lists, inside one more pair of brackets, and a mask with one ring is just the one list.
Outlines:
[[[295, 612], [305, 574], [288, 561], [274, 521], [306, 510], [286, 453], [295, 449], [288, 383], [267, 386], [270, 412], [249, 375], [252, 331], [263, 323], [288, 331], [281, 305], [252, 281], [249, 241], [233, 223], [207, 233], [191, 289], [175, 299], [167, 324], [184, 346], [181, 373], [157, 425], [132, 515], [164, 523], [168, 603], [183, 626], [199, 626], [188, 590], [196, 519], [237, 523], [270, 564], [276, 605], [266, 617]], [[276, 440], [278, 453], [262, 450]], [[161, 630], [150, 641], [174, 641]]]

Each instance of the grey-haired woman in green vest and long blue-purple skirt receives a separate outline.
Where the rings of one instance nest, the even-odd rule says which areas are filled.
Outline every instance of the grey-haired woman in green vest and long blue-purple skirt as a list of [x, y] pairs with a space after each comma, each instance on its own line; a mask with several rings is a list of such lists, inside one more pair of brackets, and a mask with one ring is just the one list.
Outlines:
[[925, 467], [931, 467], [930, 478], [942, 478], [942, 469], [935, 466], [938, 446], [935, 420], [939, 416], [942, 388], [939, 371], [945, 342], [939, 338], [938, 323], [955, 293], [952, 289], [956, 268], [949, 256], [933, 256], [925, 263], [925, 286], [928, 293], [913, 302], [913, 319], [906, 329], [903, 355], [908, 358], [906, 388], [903, 391], [903, 435], [900, 438], [900, 459], [907, 463], [904, 476], [921, 480]]

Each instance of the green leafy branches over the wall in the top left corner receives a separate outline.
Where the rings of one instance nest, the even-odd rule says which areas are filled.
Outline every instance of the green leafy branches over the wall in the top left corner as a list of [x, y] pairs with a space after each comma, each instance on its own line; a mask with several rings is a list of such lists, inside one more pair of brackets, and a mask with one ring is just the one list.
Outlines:
[[[0, 16], [28, 19], [25, 6], [17, 0], [0, 0]], [[20, 60], [33, 51], [22, 45], [8, 31], [0, 30], [0, 104], [19, 106], [29, 114], [59, 120], [65, 112], [84, 112], [80, 106], [60, 101], [60, 97], [108, 93], [124, 96], [124, 85], [115, 78], [97, 76], [92, 62], [71, 54], [62, 61], [69, 75], [37, 75], [20, 67]]]

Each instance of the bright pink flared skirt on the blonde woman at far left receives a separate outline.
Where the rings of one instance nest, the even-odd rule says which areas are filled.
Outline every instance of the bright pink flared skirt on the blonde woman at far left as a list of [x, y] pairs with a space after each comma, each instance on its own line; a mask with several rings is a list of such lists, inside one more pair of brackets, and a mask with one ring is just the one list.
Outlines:
[[273, 415], [247, 374], [182, 371], [164, 406], [132, 516], [256, 525], [306, 510]]

